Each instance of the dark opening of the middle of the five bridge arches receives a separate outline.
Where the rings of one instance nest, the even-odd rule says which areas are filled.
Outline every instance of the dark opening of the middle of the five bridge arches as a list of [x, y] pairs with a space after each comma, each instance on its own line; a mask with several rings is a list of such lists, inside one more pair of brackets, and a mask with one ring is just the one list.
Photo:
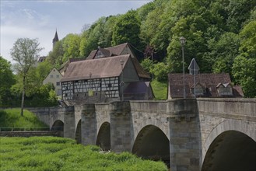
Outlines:
[[100, 146], [104, 151], [110, 150], [110, 123], [103, 122], [96, 138], [96, 145]]

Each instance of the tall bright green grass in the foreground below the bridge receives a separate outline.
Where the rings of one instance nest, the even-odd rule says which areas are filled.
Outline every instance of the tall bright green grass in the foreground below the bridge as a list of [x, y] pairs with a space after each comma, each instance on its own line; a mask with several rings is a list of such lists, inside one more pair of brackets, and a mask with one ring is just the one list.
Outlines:
[[167, 170], [163, 162], [142, 160], [128, 152], [101, 153], [57, 137], [0, 138], [0, 170]]

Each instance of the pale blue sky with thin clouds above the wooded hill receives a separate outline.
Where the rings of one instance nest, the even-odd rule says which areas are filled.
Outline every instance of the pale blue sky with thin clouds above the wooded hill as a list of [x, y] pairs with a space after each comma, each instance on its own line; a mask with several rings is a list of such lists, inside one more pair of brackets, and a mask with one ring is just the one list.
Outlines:
[[52, 50], [55, 31], [61, 40], [68, 33], [81, 33], [84, 25], [101, 16], [124, 14], [152, 0], [0, 0], [0, 55], [12, 61], [10, 49], [18, 38], [38, 39], [44, 49]]

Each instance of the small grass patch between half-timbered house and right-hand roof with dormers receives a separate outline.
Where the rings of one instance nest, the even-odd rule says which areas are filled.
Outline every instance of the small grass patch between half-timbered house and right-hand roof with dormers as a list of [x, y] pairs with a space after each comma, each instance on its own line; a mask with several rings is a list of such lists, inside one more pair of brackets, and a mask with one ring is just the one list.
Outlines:
[[156, 79], [154, 79], [151, 82], [151, 86], [155, 95], [155, 99], [167, 99], [167, 82], [158, 82]]

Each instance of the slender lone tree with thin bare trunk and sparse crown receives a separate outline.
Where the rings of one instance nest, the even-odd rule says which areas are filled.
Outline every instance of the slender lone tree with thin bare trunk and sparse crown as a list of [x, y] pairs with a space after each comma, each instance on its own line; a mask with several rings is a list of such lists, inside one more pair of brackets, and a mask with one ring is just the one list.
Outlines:
[[35, 64], [39, 57], [39, 52], [42, 48], [39, 47], [37, 39], [19, 38], [13, 44], [11, 49], [11, 57], [16, 61], [16, 69], [23, 76], [23, 95], [21, 100], [21, 116], [23, 116], [24, 96], [26, 89], [26, 75], [30, 68]]

